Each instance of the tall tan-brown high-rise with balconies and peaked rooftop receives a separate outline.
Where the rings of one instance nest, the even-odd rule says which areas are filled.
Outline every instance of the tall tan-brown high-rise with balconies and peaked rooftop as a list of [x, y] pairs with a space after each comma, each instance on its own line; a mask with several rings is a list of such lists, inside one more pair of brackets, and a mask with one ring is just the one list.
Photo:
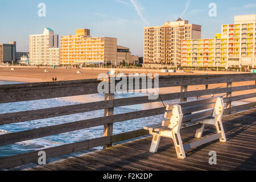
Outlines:
[[163, 26], [143, 28], [144, 64], [180, 64], [181, 40], [200, 39], [201, 26], [177, 19]]

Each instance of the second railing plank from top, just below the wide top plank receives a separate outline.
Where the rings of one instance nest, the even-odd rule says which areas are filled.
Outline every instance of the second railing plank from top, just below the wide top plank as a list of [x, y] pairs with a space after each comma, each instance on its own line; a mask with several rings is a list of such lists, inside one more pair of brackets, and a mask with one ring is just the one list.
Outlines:
[[[238, 90], [253, 89], [253, 88], [256, 88], [256, 86], [249, 85], [249, 86], [238, 86], [233, 88], [218, 88], [218, 89], [206, 90], [207, 92], [204, 92], [204, 90], [200, 90], [200, 91], [192, 91], [192, 92], [184, 92], [184, 93], [171, 93], [171, 94], [162, 94], [161, 98], [163, 101], [166, 101], [166, 100], [172, 100], [172, 99], [182, 98], [182, 97], [195, 97], [198, 95], [197, 92], [200, 92], [200, 96], [203, 96], [210, 93], [230, 92], [230, 90], [234, 92]], [[229, 89], [229, 91], [227, 89]], [[217, 90], [220, 90], [220, 91], [217, 91]], [[254, 96], [255, 94], [253, 93], [246, 96], [231, 97], [229, 99], [232, 101], [235, 101], [235, 100], [244, 99], [245, 97], [250, 98]], [[230, 100], [228, 100], [228, 98], [224, 98], [225, 102], [229, 102]], [[87, 111], [101, 110], [108, 107], [146, 104], [146, 103], [155, 102], [155, 101], [160, 101], [160, 98], [158, 98], [158, 100], [148, 100], [148, 96], [143, 96], [143, 97], [133, 97], [133, 98], [121, 98], [121, 99], [116, 99], [114, 101], [113, 100], [98, 101], [98, 102], [90, 102], [90, 103], [70, 105], [70, 106], [22, 111], [17, 113], [6, 113], [6, 114], [0, 114], [0, 125], [6, 125], [9, 123], [18, 123], [18, 122], [24, 122], [24, 121], [32, 121], [36, 119], [59, 117], [59, 116], [69, 115], [69, 114], [83, 113]], [[201, 104], [204, 104], [204, 101], [205, 100], [199, 100], [199, 101], [196, 101], [195, 104], [201, 105]], [[187, 102], [187, 103], [184, 102], [184, 104], [182, 104], [182, 107], [188, 107], [188, 106], [191, 106], [191, 102]]]

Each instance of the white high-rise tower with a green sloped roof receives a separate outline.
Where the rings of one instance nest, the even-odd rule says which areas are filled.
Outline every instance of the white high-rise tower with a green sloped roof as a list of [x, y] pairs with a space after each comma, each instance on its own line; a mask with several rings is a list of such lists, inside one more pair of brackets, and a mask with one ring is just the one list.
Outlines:
[[59, 35], [51, 28], [44, 28], [43, 34], [30, 35], [30, 64], [60, 64]]

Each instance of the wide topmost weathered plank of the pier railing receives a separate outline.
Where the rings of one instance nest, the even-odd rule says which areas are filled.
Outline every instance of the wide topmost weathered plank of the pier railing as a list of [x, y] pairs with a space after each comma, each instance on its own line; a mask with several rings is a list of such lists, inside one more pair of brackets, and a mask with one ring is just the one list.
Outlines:
[[[224, 82], [249, 81], [255, 79], [256, 74], [254, 73], [232, 75], [160, 76], [159, 88], [170, 86], [201, 85], [205, 83], [217, 84]], [[117, 84], [117, 82], [115, 82], [115, 84]], [[127, 79], [127, 82], [129, 82], [129, 79]], [[1, 85], [0, 103], [93, 94], [98, 93], [98, 84], [100, 84], [100, 81], [92, 79]], [[134, 84], [133, 88], [138, 85], [141, 86], [142, 81], [140, 81], [139, 84]], [[200, 92], [197, 92], [196, 96], [200, 96]]]

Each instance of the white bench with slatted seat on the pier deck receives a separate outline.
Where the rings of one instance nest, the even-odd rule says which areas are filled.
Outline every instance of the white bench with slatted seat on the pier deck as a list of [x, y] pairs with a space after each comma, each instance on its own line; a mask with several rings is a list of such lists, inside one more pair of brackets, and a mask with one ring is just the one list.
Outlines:
[[[220, 142], [226, 142], [225, 132], [222, 126], [222, 115], [224, 111], [224, 102], [221, 97], [213, 97], [204, 100], [191, 102], [182, 102], [178, 105], [167, 105], [166, 113], [162, 125], [153, 125], [144, 127], [153, 135], [150, 152], [157, 152], [161, 137], [168, 137], [174, 140], [177, 157], [184, 159], [185, 151], [191, 148], [201, 146], [202, 144], [220, 139]], [[184, 144], [180, 137], [180, 129], [189, 126], [202, 126], [196, 131], [196, 138], [201, 138], [205, 125], [214, 125], [217, 134], [210, 135], [195, 142]]]

